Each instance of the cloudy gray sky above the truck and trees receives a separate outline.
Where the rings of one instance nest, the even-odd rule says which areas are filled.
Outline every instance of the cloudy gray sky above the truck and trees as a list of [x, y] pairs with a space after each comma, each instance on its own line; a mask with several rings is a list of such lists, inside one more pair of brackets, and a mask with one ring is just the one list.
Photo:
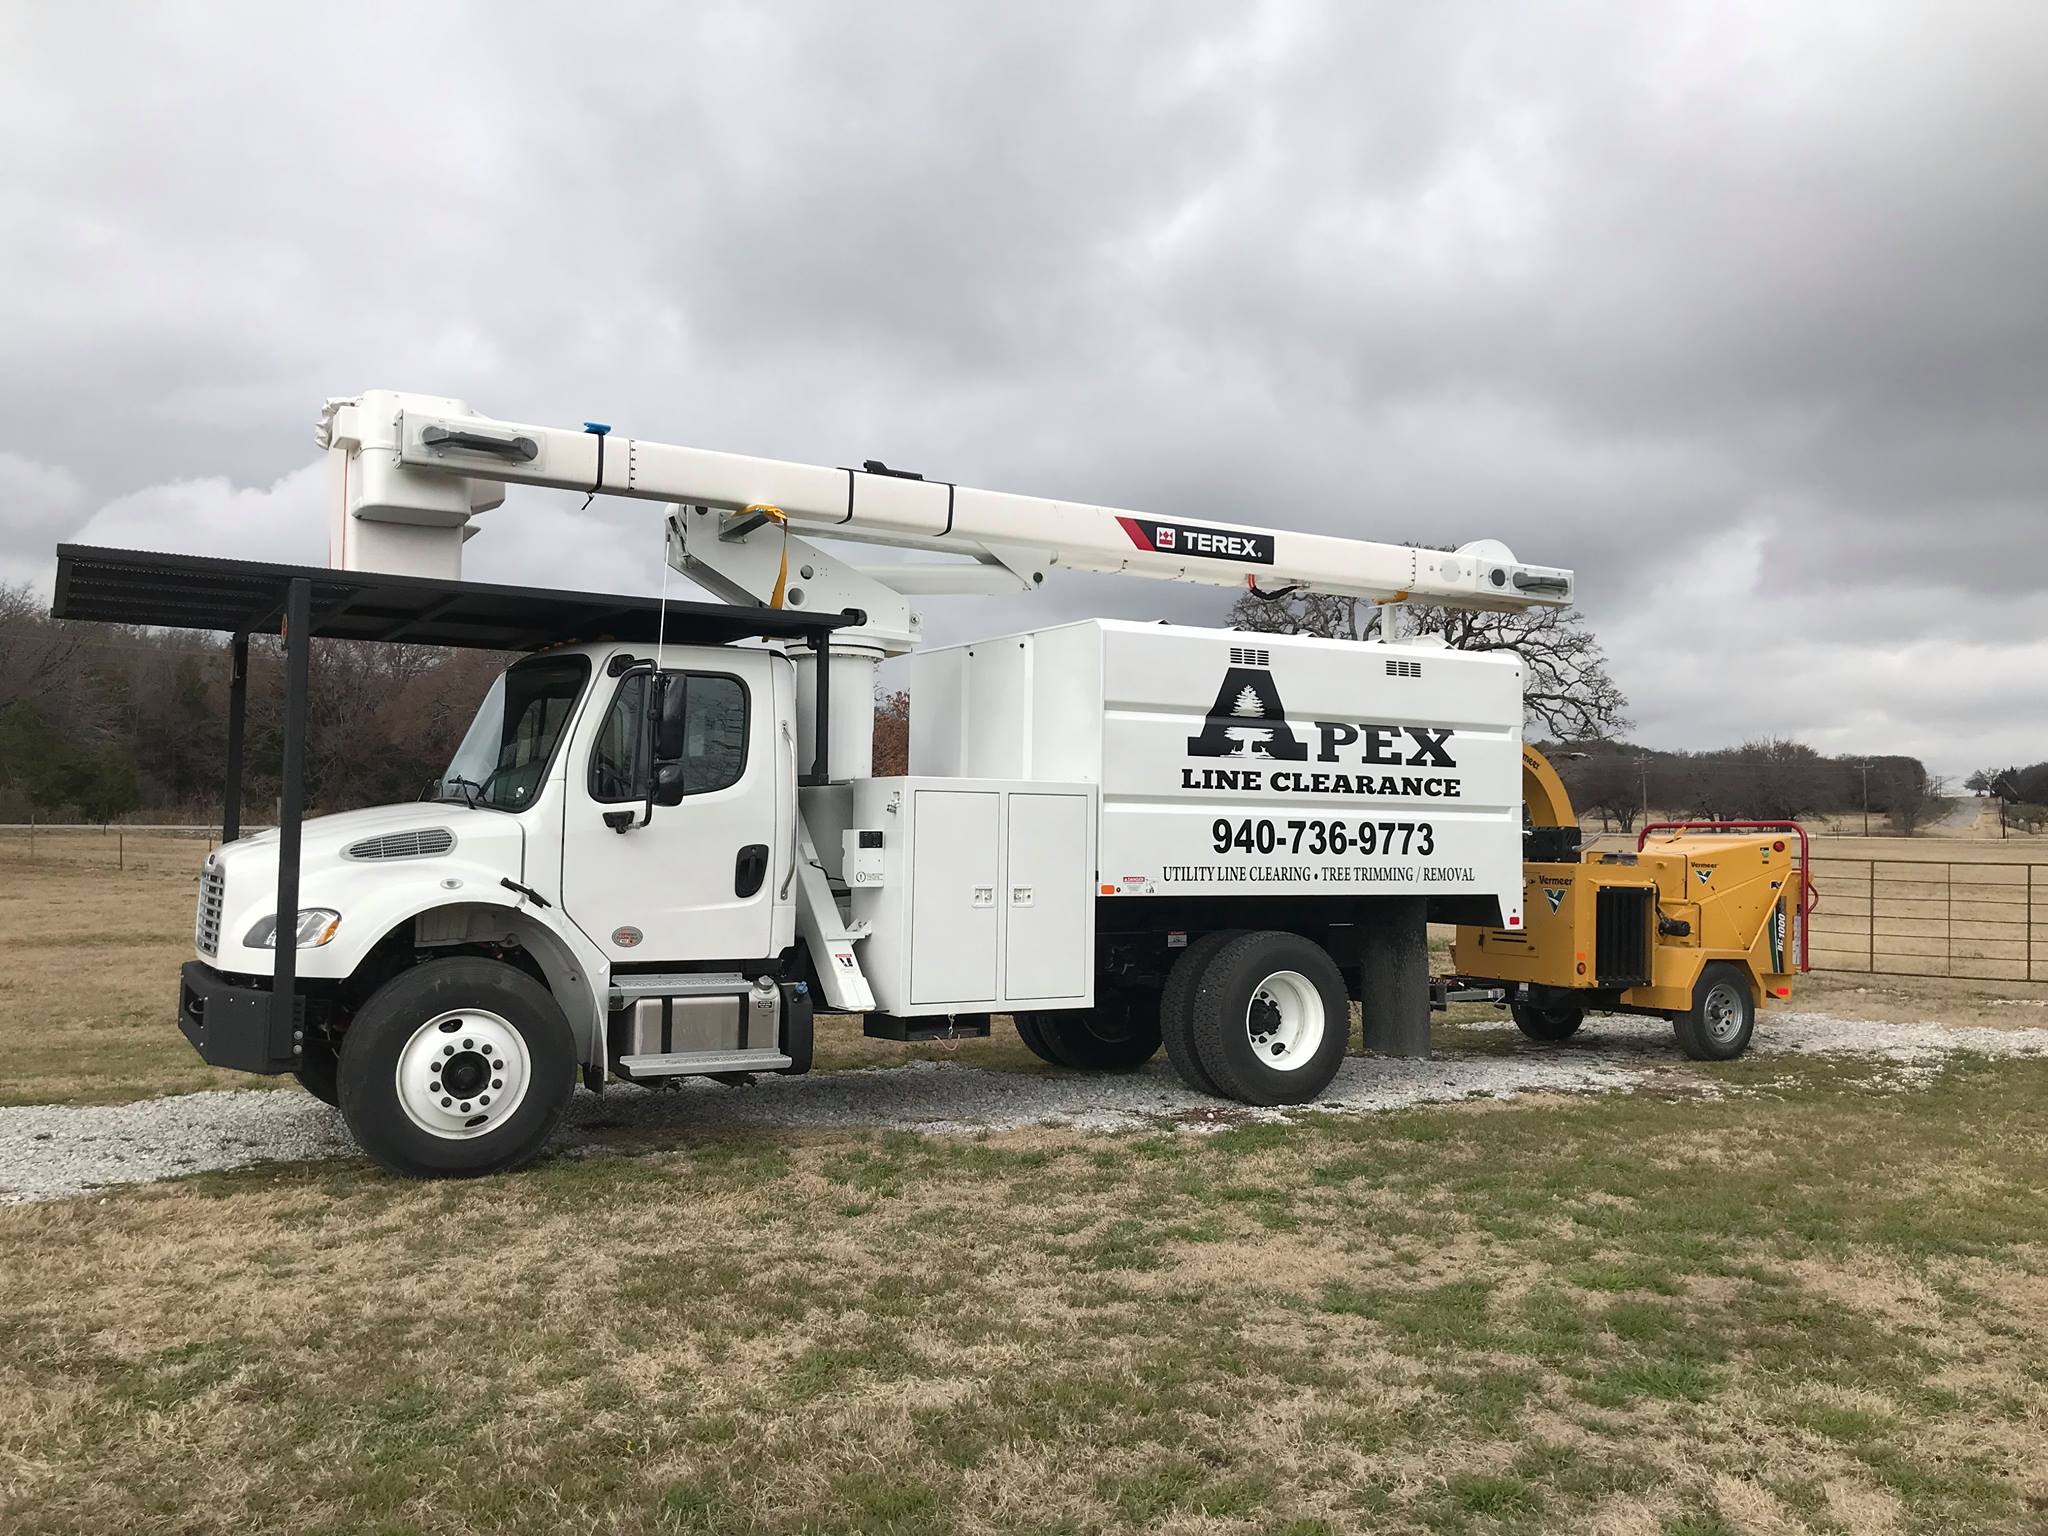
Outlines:
[[[1503, 539], [1655, 745], [2048, 756], [2038, 0], [0, 0], [0, 580], [319, 561], [315, 410], [393, 387]], [[578, 502], [469, 573], [653, 590]]]

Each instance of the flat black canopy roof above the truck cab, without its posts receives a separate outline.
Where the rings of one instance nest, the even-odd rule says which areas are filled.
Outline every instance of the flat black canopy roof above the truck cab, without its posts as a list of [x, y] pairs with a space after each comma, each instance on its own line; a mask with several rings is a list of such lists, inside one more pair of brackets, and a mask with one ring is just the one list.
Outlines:
[[539, 651], [600, 639], [653, 645], [657, 629], [674, 645], [811, 641], [856, 623], [854, 614], [799, 614], [788, 608], [733, 608], [719, 602], [670, 602], [664, 621], [655, 598], [92, 545], [57, 545], [57, 600], [51, 614], [106, 625], [274, 635], [285, 621], [293, 582], [307, 584], [309, 631], [315, 639], [479, 651]]

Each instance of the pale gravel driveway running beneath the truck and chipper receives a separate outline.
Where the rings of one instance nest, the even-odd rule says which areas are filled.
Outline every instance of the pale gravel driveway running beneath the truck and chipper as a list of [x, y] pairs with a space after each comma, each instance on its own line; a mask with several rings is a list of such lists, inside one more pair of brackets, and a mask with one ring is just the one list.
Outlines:
[[[1497, 1028], [1513, 1030], [1505, 1022]], [[1769, 1014], [1757, 1022], [1751, 1049], [1757, 1055], [1872, 1057], [1892, 1067], [1898, 1085], [1909, 1087], [1958, 1051], [2048, 1055], [2048, 1028], [1866, 1024], [1825, 1014]], [[612, 1085], [602, 1098], [578, 1094], [561, 1145], [588, 1147], [618, 1126], [662, 1124], [887, 1126], [969, 1135], [1030, 1124], [1212, 1130], [1303, 1112], [1372, 1114], [1462, 1098], [1620, 1092], [1686, 1069], [1671, 1026], [1634, 1018], [1595, 1018], [1567, 1044], [1532, 1044], [1507, 1057], [1352, 1057], [1309, 1110], [1247, 1110], [1196, 1094], [1182, 1085], [1163, 1057], [1145, 1071], [1102, 1077], [915, 1061], [870, 1071], [762, 1077], [737, 1090], [696, 1079], [672, 1092]], [[1712, 1077], [1694, 1075], [1694, 1081], [1710, 1085]], [[0, 1202], [59, 1200], [201, 1169], [352, 1153], [354, 1143], [340, 1116], [293, 1090], [180, 1094], [113, 1106], [0, 1108]]]

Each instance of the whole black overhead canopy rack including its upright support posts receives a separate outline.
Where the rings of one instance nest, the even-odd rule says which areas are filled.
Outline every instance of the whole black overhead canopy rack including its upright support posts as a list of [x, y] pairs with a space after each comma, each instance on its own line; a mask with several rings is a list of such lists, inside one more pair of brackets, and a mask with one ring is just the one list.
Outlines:
[[[424, 575], [332, 571], [211, 555], [156, 555], [141, 549], [57, 545], [53, 618], [152, 629], [211, 629], [233, 635], [227, 688], [227, 795], [221, 842], [242, 836], [242, 731], [248, 713], [250, 635], [285, 637], [285, 770], [279, 797], [276, 932], [293, 932], [299, 909], [299, 823], [305, 819], [305, 690], [311, 639], [449, 645], [481, 651], [539, 651], [573, 641], [629, 645], [727, 645], [739, 639], [803, 641], [819, 655], [817, 758], [805, 782], [829, 782], [827, 721], [831, 631], [866, 621], [860, 612], [799, 614], [717, 602], [553, 592], [492, 582], [436, 582]], [[279, 1059], [297, 1055], [303, 1024], [297, 999], [299, 952], [279, 944], [270, 979], [270, 1042]]]

